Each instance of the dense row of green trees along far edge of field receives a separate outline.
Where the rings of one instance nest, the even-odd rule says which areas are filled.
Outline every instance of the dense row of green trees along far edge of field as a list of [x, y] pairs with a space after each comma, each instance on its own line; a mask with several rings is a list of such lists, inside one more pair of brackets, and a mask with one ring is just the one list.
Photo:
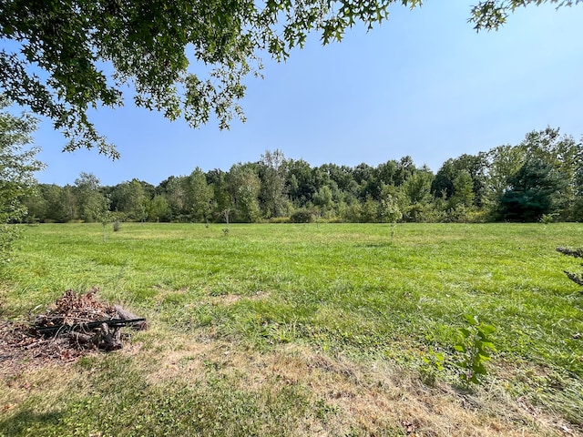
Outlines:
[[138, 179], [103, 187], [82, 173], [72, 186], [39, 184], [22, 200], [37, 222], [578, 221], [582, 158], [581, 141], [547, 127], [515, 146], [450, 158], [436, 174], [410, 157], [312, 167], [275, 150], [158, 187]]

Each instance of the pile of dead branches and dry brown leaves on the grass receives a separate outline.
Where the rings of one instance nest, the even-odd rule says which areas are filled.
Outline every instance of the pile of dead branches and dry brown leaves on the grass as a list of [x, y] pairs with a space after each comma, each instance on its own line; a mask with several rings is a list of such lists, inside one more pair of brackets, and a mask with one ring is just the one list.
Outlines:
[[33, 330], [46, 338], [65, 338], [78, 349], [115, 351], [122, 348], [121, 328], [146, 329], [146, 320], [97, 299], [93, 288], [85, 294], [66, 290], [55, 306], [36, 316]]

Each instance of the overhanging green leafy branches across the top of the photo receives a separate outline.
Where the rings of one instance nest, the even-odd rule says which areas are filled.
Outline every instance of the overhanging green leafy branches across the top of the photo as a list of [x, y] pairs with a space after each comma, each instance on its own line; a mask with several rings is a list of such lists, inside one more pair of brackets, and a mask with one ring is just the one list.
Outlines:
[[[550, 0], [571, 5], [583, 0]], [[261, 54], [284, 60], [309, 33], [340, 41], [347, 28], [369, 28], [389, 6], [422, 0], [0, 0], [0, 93], [49, 117], [65, 149], [97, 147], [118, 157], [87, 116], [91, 107], [124, 104], [191, 127], [214, 115], [220, 128], [244, 120], [243, 79], [260, 75]], [[496, 29], [519, 5], [544, 0], [487, 0], [474, 6], [476, 29]]]

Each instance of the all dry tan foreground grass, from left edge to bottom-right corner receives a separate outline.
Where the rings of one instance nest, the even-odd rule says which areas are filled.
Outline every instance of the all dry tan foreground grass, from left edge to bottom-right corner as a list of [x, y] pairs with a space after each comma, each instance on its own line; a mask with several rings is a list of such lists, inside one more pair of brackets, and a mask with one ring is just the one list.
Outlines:
[[[260, 403], [281, 396], [286, 387], [302, 392], [312, 412], [292, 416], [291, 435], [583, 435], [524, 399], [512, 400], [496, 380], [469, 393], [443, 382], [426, 386], [417, 374], [386, 361], [354, 362], [299, 344], [257, 351], [164, 330], [140, 335], [142, 343], [137, 339], [128, 349], [111, 353], [162, 391], [177, 385], [210, 387], [219, 378], [228, 381], [231, 391], [247, 392]], [[89, 358], [98, 367], [105, 357], [94, 353]], [[66, 397], [75, 381], [83, 383], [94, 372], [61, 362], [5, 376], [0, 416], [13, 415], [31, 396], [44, 400], [38, 412], [50, 409], [51, 400]]]

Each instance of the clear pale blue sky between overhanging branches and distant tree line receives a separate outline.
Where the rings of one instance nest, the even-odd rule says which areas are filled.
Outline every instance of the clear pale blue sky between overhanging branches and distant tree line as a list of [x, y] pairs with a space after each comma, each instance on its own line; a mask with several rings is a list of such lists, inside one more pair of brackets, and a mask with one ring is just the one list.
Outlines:
[[476, 34], [471, 4], [395, 5], [373, 31], [354, 28], [331, 46], [313, 36], [286, 63], [264, 59], [264, 79], [250, 77], [241, 102], [247, 122], [228, 131], [171, 123], [131, 101], [99, 108], [93, 120], [121, 153], [112, 161], [96, 150], [61, 152], [65, 139], [43, 121], [35, 137], [47, 168], [37, 179], [66, 185], [90, 172], [103, 185], [158, 185], [275, 149], [312, 166], [376, 166], [409, 155], [437, 171], [447, 158], [517, 144], [547, 126], [579, 139], [583, 7], [529, 6], [499, 31]]

